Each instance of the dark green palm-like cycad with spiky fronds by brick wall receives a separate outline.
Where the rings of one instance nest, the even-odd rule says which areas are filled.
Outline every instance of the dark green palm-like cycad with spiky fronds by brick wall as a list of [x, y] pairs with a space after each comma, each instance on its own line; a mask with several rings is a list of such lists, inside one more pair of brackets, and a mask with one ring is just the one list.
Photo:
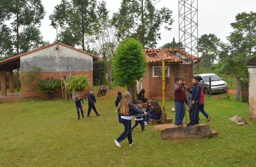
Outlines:
[[48, 99], [52, 99], [53, 92], [55, 90], [60, 90], [61, 88], [61, 80], [60, 79], [54, 80], [53, 77], [51, 78], [51, 80], [47, 78], [39, 81], [37, 86], [38, 86], [38, 92], [47, 92]]

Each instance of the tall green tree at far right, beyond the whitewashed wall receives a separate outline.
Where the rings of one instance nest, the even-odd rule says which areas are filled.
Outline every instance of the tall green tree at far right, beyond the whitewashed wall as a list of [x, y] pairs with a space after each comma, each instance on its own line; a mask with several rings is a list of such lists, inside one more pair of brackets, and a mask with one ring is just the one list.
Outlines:
[[230, 24], [234, 31], [227, 37], [230, 45], [224, 47], [224, 51], [226, 49], [229, 52], [225, 51], [225, 55], [222, 55], [220, 60], [229, 63], [229, 66], [232, 65], [232, 62], [235, 62], [234, 69], [230, 69], [232, 67], [228, 66], [227, 69], [230, 69], [230, 74], [236, 77], [236, 99], [240, 100], [240, 77], [248, 78], [246, 63], [253, 56], [253, 49], [256, 49], [256, 13], [242, 12], [238, 13], [235, 18], [236, 22]]

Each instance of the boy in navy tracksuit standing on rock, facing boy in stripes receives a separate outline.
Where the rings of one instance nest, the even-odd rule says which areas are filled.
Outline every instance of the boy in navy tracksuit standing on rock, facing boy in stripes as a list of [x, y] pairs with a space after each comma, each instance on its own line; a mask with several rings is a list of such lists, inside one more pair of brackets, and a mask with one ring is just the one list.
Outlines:
[[201, 99], [201, 87], [198, 84], [199, 77], [192, 78], [192, 84], [194, 87], [192, 91], [185, 85], [186, 89], [192, 94], [192, 110], [191, 110], [191, 119], [190, 123], [187, 126], [194, 126], [195, 124], [199, 124], [199, 102]]

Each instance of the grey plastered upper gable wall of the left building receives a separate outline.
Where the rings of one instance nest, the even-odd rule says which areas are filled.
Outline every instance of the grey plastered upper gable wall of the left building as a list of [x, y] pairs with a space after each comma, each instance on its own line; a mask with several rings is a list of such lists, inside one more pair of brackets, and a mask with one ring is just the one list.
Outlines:
[[[21, 72], [28, 72], [32, 66], [41, 67], [43, 72], [58, 72], [59, 57], [57, 44], [21, 56]], [[93, 71], [92, 56], [77, 50], [59, 45], [61, 71]], [[68, 67], [67, 67], [68, 66]]]

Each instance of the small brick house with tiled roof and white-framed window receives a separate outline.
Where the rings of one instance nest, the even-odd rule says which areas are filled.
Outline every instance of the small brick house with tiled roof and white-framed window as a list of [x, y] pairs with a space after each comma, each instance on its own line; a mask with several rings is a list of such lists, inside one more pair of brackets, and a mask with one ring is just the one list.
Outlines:
[[[182, 74], [186, 74], [187, 83], [192, 83], [192, 63], [198, 62], [198, 58], [187, 52], [185, 53], [182, 49], [175, 49], [174, 55], [172, 55], [172, 49], [144, 49], [144, 51], [149, 66], [142, 83], [137, 82], [137, 92], [144, 88], [145, 97], [162, 99], [162, 60], [165, 60], [166, 99], [174, 97], [175, 77], [179, 76], [185, 79], [180, 70]], [[179, 55], [181, 55], [181, 58], [179, 58]]]

